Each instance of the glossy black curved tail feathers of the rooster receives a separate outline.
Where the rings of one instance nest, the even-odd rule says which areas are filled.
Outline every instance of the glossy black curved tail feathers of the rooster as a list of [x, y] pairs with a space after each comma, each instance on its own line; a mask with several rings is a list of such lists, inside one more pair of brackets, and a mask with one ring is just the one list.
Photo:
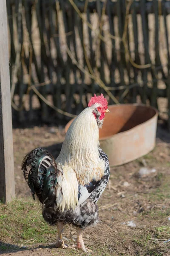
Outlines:
[[36, 194], [42, 204], [54, 204], [58, 171], [51, 153], [45, 148], [35, 148], [24, 157], [22, 171], [34, 200]]

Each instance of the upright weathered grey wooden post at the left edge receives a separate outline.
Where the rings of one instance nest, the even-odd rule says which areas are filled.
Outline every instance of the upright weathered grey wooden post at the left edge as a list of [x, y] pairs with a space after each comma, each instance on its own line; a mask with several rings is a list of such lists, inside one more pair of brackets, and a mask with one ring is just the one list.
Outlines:
[[6, 0], [0, 0], [0, 200], [15, 196]]

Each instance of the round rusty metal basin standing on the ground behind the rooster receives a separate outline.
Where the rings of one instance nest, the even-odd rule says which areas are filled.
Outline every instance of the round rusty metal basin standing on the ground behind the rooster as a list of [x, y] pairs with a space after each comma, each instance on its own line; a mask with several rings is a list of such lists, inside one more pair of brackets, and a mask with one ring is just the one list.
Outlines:
[[[155, 147], [158, 111], [145, 105], [109, 105], [99, 141], [110, 166], [119, 166], [147, 154]], [[65, 126], [65, 132], [73, 119]]]

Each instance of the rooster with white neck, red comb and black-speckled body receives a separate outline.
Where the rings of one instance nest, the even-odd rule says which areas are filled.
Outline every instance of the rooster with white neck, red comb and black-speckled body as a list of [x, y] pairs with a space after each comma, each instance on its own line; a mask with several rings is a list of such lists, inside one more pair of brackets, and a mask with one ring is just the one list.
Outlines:
[[43, 218], [57, 225], [56, 247], [70, 247], [64, 244], [62, 233], [65, 224], [73, 224], [75, 247], [89, 251], [83, 230], [98, 223], [96, 203], [110, 176], [108, 157], [99, 146], [99, 128], [107, 112], [107, 100], [94, 94], [68, 128], [56, 160], [45, 148], [36, 148], [23, 159], [23, 175], [34, 200], [36, 195], [42, 204]]

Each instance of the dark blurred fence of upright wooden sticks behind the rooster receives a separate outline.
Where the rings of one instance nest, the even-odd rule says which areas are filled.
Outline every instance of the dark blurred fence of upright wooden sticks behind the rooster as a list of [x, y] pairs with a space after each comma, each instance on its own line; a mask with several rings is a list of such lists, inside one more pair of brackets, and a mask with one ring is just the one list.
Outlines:
[[20, 122], [36, 109], [71, 118], [94, 93], [170, 109], [170, 1], [9, 0], [7, 11]]

